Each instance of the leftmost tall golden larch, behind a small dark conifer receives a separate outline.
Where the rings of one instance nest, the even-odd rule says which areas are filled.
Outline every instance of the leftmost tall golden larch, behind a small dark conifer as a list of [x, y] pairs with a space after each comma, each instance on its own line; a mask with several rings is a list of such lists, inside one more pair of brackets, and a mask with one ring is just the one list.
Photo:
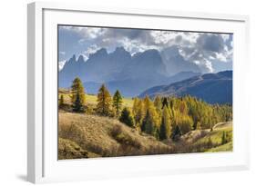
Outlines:
[[76, 77], [71, 85], [71, 100], [72, 103], [75, 103], [77, 100], [77, 93], [79, 93], [80, 103], [82, 105], [86, 102], [85, 89], [82, 81]]

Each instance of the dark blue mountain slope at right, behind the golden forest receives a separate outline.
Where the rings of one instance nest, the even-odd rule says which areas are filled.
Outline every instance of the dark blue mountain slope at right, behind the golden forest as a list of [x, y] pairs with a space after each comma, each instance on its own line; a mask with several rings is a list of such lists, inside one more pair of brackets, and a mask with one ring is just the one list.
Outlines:
[[192, 95], [207, 103], [232, 103], [232, 71], [205, 73], [177, 83], [152, 87], [139, 97]]

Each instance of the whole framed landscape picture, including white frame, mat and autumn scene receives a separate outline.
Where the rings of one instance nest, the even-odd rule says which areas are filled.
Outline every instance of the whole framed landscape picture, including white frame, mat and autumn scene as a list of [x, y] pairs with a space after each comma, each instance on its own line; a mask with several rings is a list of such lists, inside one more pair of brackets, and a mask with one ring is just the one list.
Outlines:
[[245, 170], [245, 15], [28, 5], [31, 182]]

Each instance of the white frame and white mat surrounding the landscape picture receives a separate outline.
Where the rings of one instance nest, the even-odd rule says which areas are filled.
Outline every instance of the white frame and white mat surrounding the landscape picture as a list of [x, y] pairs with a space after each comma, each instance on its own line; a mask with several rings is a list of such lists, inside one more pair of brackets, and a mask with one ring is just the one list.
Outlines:
[[[85, 21], [87, 20], [85, 17], [88, 16], [90, 22]], [[80, 19], [77, 19], [79, 17]], [[167, 28], [166, 23], [177, 23], [172, 24], [173, 29], [234, 33], [233, 152], [57, 161], [57, 122], [54, 109], [57, 102], [56, 96], [51, 94], [57, 88], [57, 64], [50, 63], [57, 63], [56, 25], [111, 24], [119, 27], [139, 27], [141, 21], [144, 23], [143, 27], [147, 28], [154, 26]], [[246, 68], [250, 65], [248, 26], [249, 17], [246, 15], [88, 7], [86, 4], [67, 3], [29, 4], [27, 8], [27, 180], [34, 183], [86, 181], [249, 169], [250, 122], [245, 117], [248, 104], [241, 100], [247, 96], [243, 82], [247, 80]], [[243, 63], [239, 63], [240, 61]]]

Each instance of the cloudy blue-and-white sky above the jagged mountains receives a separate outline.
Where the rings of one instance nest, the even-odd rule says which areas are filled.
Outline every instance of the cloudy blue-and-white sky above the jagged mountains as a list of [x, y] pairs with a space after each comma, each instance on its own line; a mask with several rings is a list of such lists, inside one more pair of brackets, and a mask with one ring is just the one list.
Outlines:
[[179, 54], [198, 64], [202, 73], [216, 73], [232, 69], [233, 35], [182, 31], [161, 31], [86, 26], [58, 26], [59, 67], [73, 54], [87, 60], [100, 48], [108, 53], [123, 46], [130, 54], [157, 49], [159, 52], [176, 45]]

